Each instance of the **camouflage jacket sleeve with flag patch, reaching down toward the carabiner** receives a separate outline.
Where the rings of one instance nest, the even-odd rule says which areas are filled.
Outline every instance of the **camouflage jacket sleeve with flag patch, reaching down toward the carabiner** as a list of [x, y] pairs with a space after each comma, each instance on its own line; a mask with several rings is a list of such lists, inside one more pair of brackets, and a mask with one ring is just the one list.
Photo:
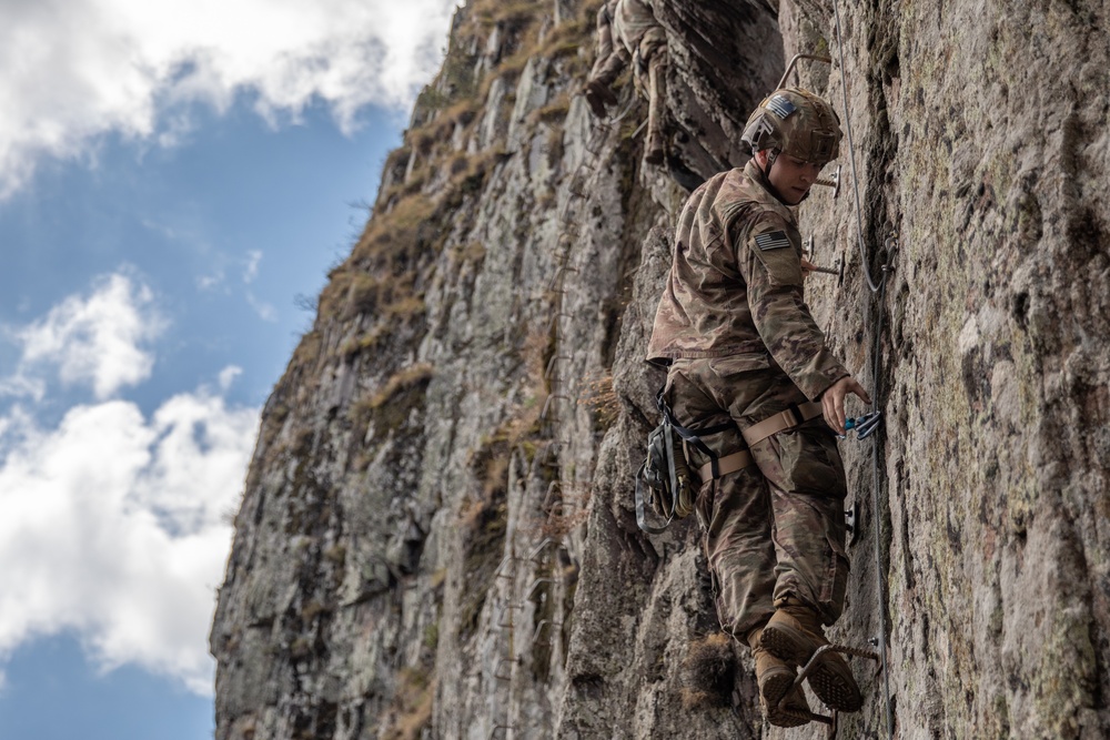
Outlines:
[[849, 373], [825, 345], [803, 297], [798, 241], [781, 216], [766, 214], [738, 235], [735, 247], [759, 337], [794, 384], [816, 401]]

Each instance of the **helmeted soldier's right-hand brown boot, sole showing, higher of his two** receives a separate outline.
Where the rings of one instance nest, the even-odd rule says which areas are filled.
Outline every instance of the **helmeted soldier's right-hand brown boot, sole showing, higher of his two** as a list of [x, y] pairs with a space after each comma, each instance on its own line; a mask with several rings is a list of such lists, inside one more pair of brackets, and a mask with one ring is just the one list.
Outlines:
[[[828, 643], [820, 617], [794, 597], [775, 611], [760, 635], [761, 647], [791, 666], [804, 667]], [[821, 653], [807, 680], [817, 698], [831, 709], [856, 712], [864, 704], [851, 668], [839, 652]]]

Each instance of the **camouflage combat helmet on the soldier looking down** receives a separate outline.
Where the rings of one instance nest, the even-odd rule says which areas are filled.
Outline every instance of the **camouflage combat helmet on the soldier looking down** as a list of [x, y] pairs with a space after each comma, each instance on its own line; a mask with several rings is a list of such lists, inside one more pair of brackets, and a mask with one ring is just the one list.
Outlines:
[[783, 88], [759, 103], [740, 141], [753, 152], [769, 149], [825, 164], [840, 153], [842, 135], [831, 105], [808, 90]]

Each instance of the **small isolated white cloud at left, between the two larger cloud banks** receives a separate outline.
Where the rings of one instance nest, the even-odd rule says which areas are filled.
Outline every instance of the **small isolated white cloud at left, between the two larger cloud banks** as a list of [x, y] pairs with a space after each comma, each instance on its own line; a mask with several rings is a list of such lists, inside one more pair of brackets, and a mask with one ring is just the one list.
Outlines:
[[154, 357], [141, 345], [164, 328], [153, 305], [149, 288], [118, 273], [95, 281], [90, 296], [65, 298], [46, 318], [9, 331], [22, 345], [22, 362], [16, 376], [0, 381], [0, 395], [41, 397], [44, 366], [57, 367], [68, 385], [90, 384], [100, 399], [145, 381]]

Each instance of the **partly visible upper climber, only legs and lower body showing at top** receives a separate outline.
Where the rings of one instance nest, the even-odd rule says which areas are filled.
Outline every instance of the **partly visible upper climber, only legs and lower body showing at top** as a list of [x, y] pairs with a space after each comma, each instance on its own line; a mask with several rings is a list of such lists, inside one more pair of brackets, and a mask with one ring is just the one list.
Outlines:
[[646, 0], [609, 0], [597, 11], [597, 59], [585, 87], [586, 102], [597, 118], [605, 118], [605, 107], [617, 102], [612, 85], [629, 60], [637, 83], [647, 90], [644, 161], [660, 164], [664, 136], [659, 107], [666, 82], [667, 34]]

